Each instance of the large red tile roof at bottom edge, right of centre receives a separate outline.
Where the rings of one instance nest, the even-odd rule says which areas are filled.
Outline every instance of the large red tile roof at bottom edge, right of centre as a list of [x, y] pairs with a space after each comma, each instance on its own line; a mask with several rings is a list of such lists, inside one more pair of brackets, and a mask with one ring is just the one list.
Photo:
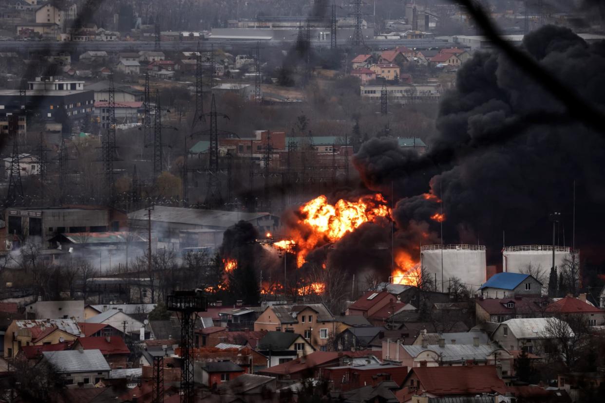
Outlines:
[[412, 373], [416, 374], [420, 386], [427, 393], [437, 396], [506, 391], [506, 385], [498, 378], [495, 366], [414, 367], [410, 369], [408, 377]]

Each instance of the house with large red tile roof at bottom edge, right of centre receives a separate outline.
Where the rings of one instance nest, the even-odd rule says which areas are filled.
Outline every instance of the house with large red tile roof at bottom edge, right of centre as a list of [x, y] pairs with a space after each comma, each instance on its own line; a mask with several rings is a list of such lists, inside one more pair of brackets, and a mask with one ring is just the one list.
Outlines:
[[[495, 366], [414, 367], [397, 391], [399, 402], [410, 402], [422, 393], [429, 398], [456, 398], [482, 393], [504, 395], [506, 384]], [[494, 398], [491, 398], [494, 401]]]

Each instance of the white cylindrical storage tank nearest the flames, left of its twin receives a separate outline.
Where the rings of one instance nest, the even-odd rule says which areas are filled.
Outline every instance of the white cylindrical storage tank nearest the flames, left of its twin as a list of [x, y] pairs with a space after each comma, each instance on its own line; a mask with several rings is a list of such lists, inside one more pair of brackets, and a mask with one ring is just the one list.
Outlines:
[[437, 291], [442, 289], [442, 268], [444, 292], [454, 277], [474, 290], [485, 283], [485, 245], [424, 245], [420, 259], [425, 272], [437, 282]]

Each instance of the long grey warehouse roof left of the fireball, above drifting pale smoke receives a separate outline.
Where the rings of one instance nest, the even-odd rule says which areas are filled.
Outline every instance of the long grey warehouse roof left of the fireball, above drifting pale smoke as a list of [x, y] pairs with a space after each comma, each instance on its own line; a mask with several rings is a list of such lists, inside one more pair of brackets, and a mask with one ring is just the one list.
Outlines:
[[[147, 210], [128, 213], [128, 219], [147, 221]], [[244, 213], [242, 211], [202, 210], [198, 208], [166, 207], [157, 205], [151, 211], [151, 221], [178, 222], [189, 225], [228, 228], [238, 221], [252, 221], [272, 217], [269, 213]]]

